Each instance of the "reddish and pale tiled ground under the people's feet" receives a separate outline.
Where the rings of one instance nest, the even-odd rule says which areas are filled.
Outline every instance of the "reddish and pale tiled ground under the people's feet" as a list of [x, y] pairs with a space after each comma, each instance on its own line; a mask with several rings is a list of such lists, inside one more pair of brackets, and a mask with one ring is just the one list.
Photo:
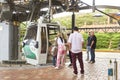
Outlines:
[[[118, 61], [118, 80], [120, 80], [120, 67], [119, 58], [120, 53], [96, 53], [96, 63], [90, 64], [85, 61], [86, 54], [84, 54], [84, 76], [80, 73], [76, 76], [73, 75], [72, 67], [65, 67], [55, 70], [51, 65], [47, 66], [0, 66], [0, 80], [108, 80], [107, 69], [109, 59]], [[80, 68], [78, 68], [80, 70]]]

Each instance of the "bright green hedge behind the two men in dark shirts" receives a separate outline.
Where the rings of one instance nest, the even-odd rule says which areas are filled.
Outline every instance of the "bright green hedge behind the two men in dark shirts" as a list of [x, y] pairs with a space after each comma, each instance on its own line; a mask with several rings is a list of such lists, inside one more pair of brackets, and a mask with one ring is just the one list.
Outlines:
[[[120, 33], [95, 33], [95, 35], [97, 37], [97, 49], [117, 49], [120, 44]], [[83, 37], [86, 44], [87, 34], [83, 33]], [[84, 48], [86, 48], [85, 46]]]

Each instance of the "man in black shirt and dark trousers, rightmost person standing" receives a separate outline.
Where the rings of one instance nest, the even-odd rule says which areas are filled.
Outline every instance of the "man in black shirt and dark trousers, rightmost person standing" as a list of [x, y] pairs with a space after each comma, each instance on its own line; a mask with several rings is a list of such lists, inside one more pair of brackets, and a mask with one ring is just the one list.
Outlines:
[[93, 31], [90, 33], [90, 35], [91, 35], [91, 39], [90, 39], [91, 60], [89, 61], [89, 63], [95, 63], [95, 48], [96, 48], [97, 38], [94, 35]]

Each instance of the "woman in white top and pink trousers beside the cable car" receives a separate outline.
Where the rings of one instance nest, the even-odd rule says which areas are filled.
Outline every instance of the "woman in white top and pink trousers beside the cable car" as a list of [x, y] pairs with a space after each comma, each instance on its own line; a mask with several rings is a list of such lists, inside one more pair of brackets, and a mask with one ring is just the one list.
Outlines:
[[65, 49], [65, 40], [63, 38], [62, 33], [58, 33], [57, 45], [58, 45], [58, 52], [57, 52], [57, 63], [55, 69], [59, 69], [60, 67], [63, 67], [65, 63], [66, 49]]

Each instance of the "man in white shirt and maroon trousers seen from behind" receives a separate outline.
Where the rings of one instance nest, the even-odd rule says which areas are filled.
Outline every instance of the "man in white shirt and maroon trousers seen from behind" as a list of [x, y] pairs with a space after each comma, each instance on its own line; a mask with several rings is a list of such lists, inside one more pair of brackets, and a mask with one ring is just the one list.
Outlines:
[[84, 74], [84, 64], [83, 64], [83, 57], [82, 57], [82, 46], [84, 44], [84, 39], [82, 34], [78, 32], [78, 28], [73, 28], [74, 32], [70, 34], [68, 43], [70, 46], [70, 51], [72, 55], [72, 66], [73, 66], [73, 73], [74, 75], [78, 74], [77, 66], [76, 66], [76, 58], [78, 58], [80, 64], [80, 73]]

